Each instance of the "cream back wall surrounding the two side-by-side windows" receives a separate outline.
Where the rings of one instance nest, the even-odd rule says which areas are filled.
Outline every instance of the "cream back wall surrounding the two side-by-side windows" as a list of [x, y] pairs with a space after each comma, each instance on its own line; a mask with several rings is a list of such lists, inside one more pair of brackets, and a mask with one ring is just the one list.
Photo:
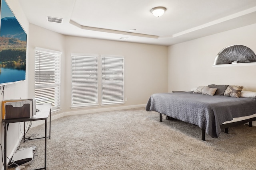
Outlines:
[[[124, 56], [124, 98], [122, 107], [144, 105], [151, 94], [167, 92], [167, 47], [66, 36], [65, 110], [71, 111], [71, 54]], [[99, 80], [100, 81], [100, 80]], [[99, 92], [99, 97], [100, 97]], [[100, 102], [100, 100], [99, 100]], [[94, 109], [106, 109], [100, 106]], [[92, 109], [92, 108], [84, 108]], [[78, 109], [77, 109], [78, 110]], [[75, 111], [72, 109], [72, 111]]]

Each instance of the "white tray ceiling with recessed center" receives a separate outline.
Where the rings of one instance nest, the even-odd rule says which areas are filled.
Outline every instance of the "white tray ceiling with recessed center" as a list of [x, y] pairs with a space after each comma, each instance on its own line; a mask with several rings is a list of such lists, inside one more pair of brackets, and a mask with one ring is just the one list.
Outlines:
[[[34, 25], [79, 37], [173, 45], [256, 23], [256, 0], [19, 0]], [[167, 8], [161, 17], [150, 10]], [[47, 22], [46, 16], [62, 18]], [[129, 29], [136, 29], [129, 32]], [[128, 39], [120, 39], [128, 37]]]

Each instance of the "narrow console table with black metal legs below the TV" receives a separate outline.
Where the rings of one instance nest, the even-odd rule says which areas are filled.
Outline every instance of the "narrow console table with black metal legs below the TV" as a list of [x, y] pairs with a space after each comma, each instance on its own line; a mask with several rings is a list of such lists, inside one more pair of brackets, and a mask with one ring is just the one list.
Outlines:
[[[33, 117], [26, 117], [26, 118], [17, 118], [17, 119], [3, 119], [4, 123], [4, 170], [7, 170], [7, 159], [6, 159], [6, 154], [7, 154], [7, 130], [9, 123], [16, 123], [16, 122], [24, 122], [24, 135], [23, 135], [23, 141], [25, 140], [34, 140], [34, 139], [42, 139], [44, 138], [44, 167], [43, 168], [38, 168], [35, 170], [46, 170], [46, 139], [50, 139], [51, 135], [51, 107], [52, 104], [40, 104], [36, 105], [36, 108], [39, 110], [36, 112], [36, 114]], [[50, 128], [49, 128], [49, 136], [47, 137], [47, 119], [50, 115]], [[38, 120], [44, 120], [45, 121], [45, 134], [44, 137], [39, 137], [39, 138], [32, 138], [32, 139], [25, 139], [25, 122], [27, 121], [38, 121]]]

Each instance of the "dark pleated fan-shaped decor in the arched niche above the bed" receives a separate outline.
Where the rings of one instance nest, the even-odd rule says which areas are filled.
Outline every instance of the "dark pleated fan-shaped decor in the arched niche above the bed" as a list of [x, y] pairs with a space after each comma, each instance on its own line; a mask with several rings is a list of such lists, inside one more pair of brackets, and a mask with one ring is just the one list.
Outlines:
[[253, 62], [256, 62], [256, 55], [250, 48], [244, 45], [230, 45], [218, 53], [214, 65]]

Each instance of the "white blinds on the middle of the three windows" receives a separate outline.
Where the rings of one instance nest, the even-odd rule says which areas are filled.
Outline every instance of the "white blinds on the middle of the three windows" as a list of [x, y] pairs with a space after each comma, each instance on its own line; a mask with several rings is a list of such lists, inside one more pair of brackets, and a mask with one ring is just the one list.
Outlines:
[[72, 106], [98, 104], [98, 56], [72, 55]]

